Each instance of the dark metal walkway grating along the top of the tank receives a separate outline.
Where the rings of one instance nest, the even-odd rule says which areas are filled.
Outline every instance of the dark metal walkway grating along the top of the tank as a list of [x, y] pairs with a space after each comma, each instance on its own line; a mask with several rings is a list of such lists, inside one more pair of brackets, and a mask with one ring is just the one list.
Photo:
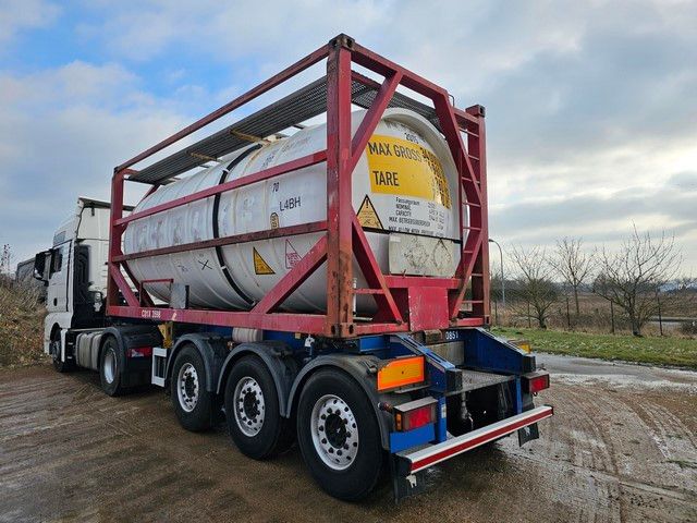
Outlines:
[[[352, 82], [352, 101], [367, 109], [372, 104], [380, 84], [368, 82], [367, 78], [365, 82], [357, 78], [358, 75], [355, 75]], [[432, 108], [401, 93], [394, 94], [389, 107], [411, 109], [438, 126], [438, 117]], [[207, 163], [210, 158], [220, 158], [249, 145], [248, 136], [271, 136], [326, 111], [327, 76], [323, 76], [185, 149], [131, 174], [129, 180], [150, 184], [164, 183], [178, 174]]]

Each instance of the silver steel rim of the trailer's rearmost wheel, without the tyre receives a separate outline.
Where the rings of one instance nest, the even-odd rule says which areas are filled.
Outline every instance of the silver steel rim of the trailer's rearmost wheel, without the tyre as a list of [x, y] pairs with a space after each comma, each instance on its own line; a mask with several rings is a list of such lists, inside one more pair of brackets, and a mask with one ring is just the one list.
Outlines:
[[335, 471], [351, 466], [358, 454], [358, 426], [346, 402], [334, 394], [322, 396], [309, 423], [315, 450], [325, 464]]

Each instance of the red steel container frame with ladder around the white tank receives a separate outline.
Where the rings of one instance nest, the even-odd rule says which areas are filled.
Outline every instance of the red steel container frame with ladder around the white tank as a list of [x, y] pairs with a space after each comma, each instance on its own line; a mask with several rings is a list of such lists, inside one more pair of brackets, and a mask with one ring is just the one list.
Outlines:
[[[282, 84], [315, 63], [327, 61], [327, 149], [293, 161], [243, 177], [147, 210], [123, 216], [123, 190], [132, 167], [179, 139], [247, 104]], [[376, 84], [352, 70], [358, 64], [384, 77]], [[357, 132], [351, 136], [352, 81], [379, 85], [376, 98]], [[433, 102], [441, 131], [448, 142], [460, 173], [458, 194], [461, 224], [463, 207], [468, 209], [468, 224], [461, 231], [462, 256], [453, 278], [384, 275], [380, 270], [356, 218], [352, 204], [352, 173], [367, 146], [376, 125], [399, 85], [403, 85]], [[467, 147], [463, 141], [466, 135]], [[203, 242], [124, 255], [121, 250], [125, 226], [138, 218], [180, 205], [196, 202], [236, 187], [268, 180], [306, 166], [327, 161], [327, 219], [292, 227], [218, 238]], [[111, 184], [111, 219], [107, 314], [112, 317], [183, 321], [231, 327], [303, 332], [331, 338], [360, 335], [405, 332], [450, 327], [476, 327], [489, 323], [489, 246], [487, 222], [486, 135], [484, 108], [472, 106], [461, 110], [452, 106], [445, 89], [386, 58], [359, 46], [351, 37], [339, 35], [315, 52], [261, 83], [239, 98], [194, 122], [159, 144], [131, 158], [114, 169]], [[150, 191], [157, 188], [154, 185]], [[315, 246], [250, 311], [175, 309], [155, 306], [129, 270], [130, 259], [171, 254], [217, 245], [289, 236], [307, 232], [326, 233]], [[355, 259], [368, 283], [353, 288]], [[279, 311], [283, 301], [327, 262], [327, 312], [325, 314]], [[122, 271], [123, 269], [123, 271]], [[126, 278], [140, 289], [132, 291]], [[470, 296], [465, 300], [467, 289]], [[354, 318], [355, 294], [370, 294], [378, 304], [371, 320]], [[122, 304], [125, 300], [125, 305]], [[463, 304], [469, 304], [467, 312]]]

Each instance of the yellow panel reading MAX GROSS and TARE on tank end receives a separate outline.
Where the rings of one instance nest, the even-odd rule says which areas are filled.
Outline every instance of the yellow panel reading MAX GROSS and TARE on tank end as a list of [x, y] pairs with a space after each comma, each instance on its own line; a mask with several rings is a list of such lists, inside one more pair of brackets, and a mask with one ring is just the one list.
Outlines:
[[451, 208], [443, 167], [426, 147], [376, 134], [368, 142], [366, 153], [374, 193], [430, 199]]

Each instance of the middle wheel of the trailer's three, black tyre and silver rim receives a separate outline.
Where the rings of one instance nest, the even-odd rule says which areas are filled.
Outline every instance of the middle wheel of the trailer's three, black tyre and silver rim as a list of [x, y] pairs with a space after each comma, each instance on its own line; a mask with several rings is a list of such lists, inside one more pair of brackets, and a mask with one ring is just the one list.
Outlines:
[[225, 382], [225, 419], [240, 451], [255, 460], [293, 443], [292, 422], [281, 416], [276, 382], [257, 356], [244, 356], [232, 367]]

